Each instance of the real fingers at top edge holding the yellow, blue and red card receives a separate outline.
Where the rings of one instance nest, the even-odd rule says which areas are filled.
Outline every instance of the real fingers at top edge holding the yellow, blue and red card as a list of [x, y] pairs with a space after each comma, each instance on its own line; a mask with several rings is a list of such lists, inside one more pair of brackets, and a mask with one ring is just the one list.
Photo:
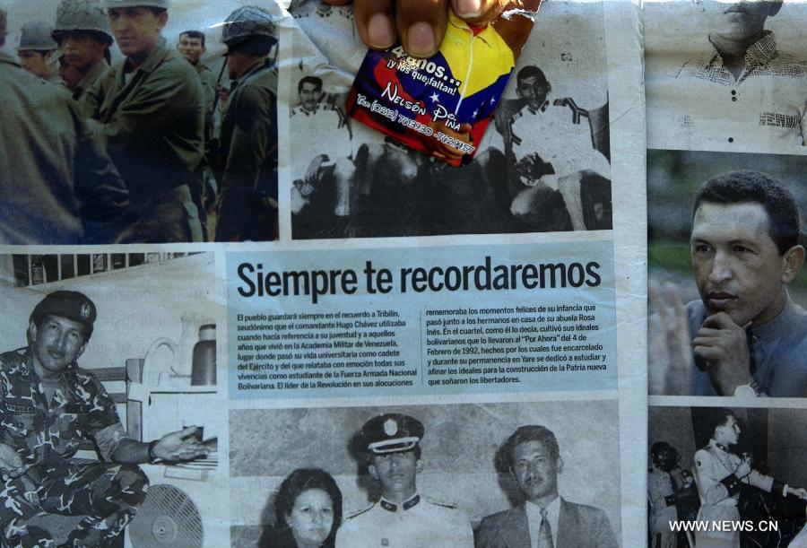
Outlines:
[[[350, 4], [351, 0], [324, 0]], [[506, 0], [355, 0], [354, 20], [361, 39], [370, 48], [386, 49], [400, 37], [412, 57], [437, 53], [448, 21], [448, 5], [466, 22], [483, 26], [499, 16]]]

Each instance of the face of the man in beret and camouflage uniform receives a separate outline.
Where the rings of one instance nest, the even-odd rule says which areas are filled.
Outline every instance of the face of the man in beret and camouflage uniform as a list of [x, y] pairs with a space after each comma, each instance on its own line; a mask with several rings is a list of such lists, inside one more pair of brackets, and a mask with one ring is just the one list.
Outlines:
[[30, 331], [33, 357], [48, 371], [63, 371], [84, 351], [84, 333], [84, 326], [72, 319], [46, 316]]

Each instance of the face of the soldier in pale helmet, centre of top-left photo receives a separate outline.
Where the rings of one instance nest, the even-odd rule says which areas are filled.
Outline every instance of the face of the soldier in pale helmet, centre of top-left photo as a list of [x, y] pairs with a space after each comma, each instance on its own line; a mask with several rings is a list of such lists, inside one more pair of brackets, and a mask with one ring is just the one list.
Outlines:
[[157, 15], [147, 7], [121, 7], [109, 10], [109, 26], [120, 51], [130, 58], [143, 58], [151, 53], [161, 37], [168, 14]]

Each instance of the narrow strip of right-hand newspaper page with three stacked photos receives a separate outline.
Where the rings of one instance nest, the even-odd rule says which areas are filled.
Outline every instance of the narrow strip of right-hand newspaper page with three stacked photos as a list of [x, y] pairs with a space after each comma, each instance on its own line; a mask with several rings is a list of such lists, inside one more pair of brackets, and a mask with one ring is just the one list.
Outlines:
[[807, 542], [805, 15], [645, 5], [657, 546]]

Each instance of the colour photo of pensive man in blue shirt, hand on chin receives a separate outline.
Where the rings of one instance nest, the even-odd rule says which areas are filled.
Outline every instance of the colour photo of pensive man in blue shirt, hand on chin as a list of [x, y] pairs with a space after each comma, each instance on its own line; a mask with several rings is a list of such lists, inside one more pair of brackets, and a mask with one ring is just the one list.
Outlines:
[[[735, 157], [711, 156], [704, 160], [723, 163]], [[803, 174], [794, 171], [801, 165], [800, 157], [791, 158], [796, 163], [785, 166], [790, 171], [782, 173], [790, 178], [788, 185], [759, 170], [714, 173], [713, 166], [707, 168], [714, 174], [699, 185], [687, 213], [689, 260], [698, 297], [686, 305], [680, 292], [689, 296], [691, 290], [675, 282], [660, 283], [655, 276], [659, 272], [653, 268], [655, 249], [658, 257], [672, 258], [654, 245], [651, 231], [651, 394], [807, 396], [803, 361], [807, 312], [796, 297], [801, 295], [804, 262], [800, 214], [804, 202], [798, 185]], [[755, 160], [760, 159], [744, 159], [751, 164]], [[693, 163], [685, 163], [684, 169], [701, 171]], [[768, 163], [773, 167], [777, 159]], [[683, 181], [693, 178], [681, 175]], [[659, 181], [668, 176], [660, 173]], [[654, 202], [655, 182], [650, 184]], [[681, 213], [679, 217], [686, 219]], [[677, 223], [676, 230], [686, 231], [685, 222]], [[678, 245], [677, 252], [682, 253]]]

